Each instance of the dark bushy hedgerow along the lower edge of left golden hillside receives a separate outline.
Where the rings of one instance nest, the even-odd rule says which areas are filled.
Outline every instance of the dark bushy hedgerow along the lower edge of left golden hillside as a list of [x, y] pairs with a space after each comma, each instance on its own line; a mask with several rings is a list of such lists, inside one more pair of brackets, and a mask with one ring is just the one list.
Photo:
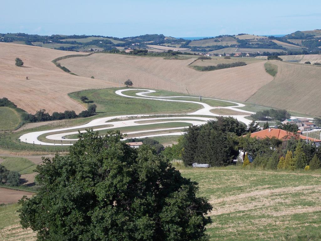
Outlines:
[[8, 100], [8, 98], [0, 99], [0, 106], [6, 106], [17, 111], [22, 119], [22, 124], [26, 122], [38, 122], [38, 121], [53, 121], [53, 120], [62, 120], [62, 119], [73, 119], [77, 117], [89, 117], [95, 114], [97, 106], [91, 104], [88, 106], [88, 109], [80, 112], [78, 115], [75, 111], [65, 111], [65, 112], [53, 112], [50, 115], [46, 112], [45, 109], [37, 111], [35, 114], [30, 114], [25, 110], [18, 108], [13, 102]]

